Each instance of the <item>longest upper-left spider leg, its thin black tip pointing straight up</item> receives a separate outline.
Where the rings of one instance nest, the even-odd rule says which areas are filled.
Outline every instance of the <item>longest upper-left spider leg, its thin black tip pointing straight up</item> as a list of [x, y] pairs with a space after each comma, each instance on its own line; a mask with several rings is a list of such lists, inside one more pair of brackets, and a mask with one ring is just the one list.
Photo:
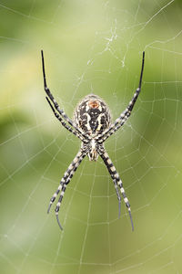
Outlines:
[[47, 85], [46, 85], [46, 78], [45, 78], [45, 59], [44, 59], [44, 54], [43, 54], [43, 50], [41, 50], [41, 57], [42, 57], [42, 67], [43, 67], [43, 78], [44, 78], [44, 88], [45, 88], [45, 92], [48, 96], [48, 98], [53, 102], [54, 106], [55, 106], [55, 109], [56, 111], [59, 112], [60, 116], [65, 119], [65, 121], [67, 121], [75, 130], [76, 132], [79, 132], [82, 136], [84, 136], [86, 139], [88, 139], [88, 136], [86, 134], [84, 134], [83, 132], [80, 131], [80, 129], [78, 129], [73, 121], [71, 119], [68, 118], [68, 116], [66, 115], [66, 113], [61, 110], [59, 108], [59, 105], [58, 103], [56, 102], [53, 94], [51, 93], [51, 91], [47, 88]]

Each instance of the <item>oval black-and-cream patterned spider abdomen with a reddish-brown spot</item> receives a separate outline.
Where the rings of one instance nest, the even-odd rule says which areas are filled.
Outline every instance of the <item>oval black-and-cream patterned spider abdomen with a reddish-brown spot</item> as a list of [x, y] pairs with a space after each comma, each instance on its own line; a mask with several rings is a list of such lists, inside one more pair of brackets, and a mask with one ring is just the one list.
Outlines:
[[74, 119], [77, 127], [90, 135], [96, 135], [109, 127], [111, 115], [104, 100], [89, 94], [76, 107]]

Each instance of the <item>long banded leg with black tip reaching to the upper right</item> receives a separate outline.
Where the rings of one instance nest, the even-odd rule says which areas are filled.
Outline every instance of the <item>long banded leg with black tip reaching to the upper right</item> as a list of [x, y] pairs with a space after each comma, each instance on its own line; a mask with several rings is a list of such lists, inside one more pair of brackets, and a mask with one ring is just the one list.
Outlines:
[[144, 61], [145, 61], [145, 51], [143, 51], [143, 58], [142, 58], [142, 67], [141, 67], [141, 72], [140, 72], [140, 79], [139, 79], [139, 85], [138, 88], [136, 89], [136, 92], [134, 93], [134, 96], [132, 100], [130, 100], [128, 106], [126, 107], [126, 110], [123, 111], [120, 116], [116, 119], [116, 121], [107, 129], [105, 132], [99, 134], [96, 137], [96, 140], [98, 142], [105, 142], [106, 139], [111, 136], [114, 132], [116, 132], [129, 118], [131, 115], [131, 111], [133, 110], [133, 107], [136, 103], [136, 100], [138, 98], [138, 95], [141, 91], [141, 85], [142, 85], [142, 78], [143, 78], [143, 72], [144, 72]]

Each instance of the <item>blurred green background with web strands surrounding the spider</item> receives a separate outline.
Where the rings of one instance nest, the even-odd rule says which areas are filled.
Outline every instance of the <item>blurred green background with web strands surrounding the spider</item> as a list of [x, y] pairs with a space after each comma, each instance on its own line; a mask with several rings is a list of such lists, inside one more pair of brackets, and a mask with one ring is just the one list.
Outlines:
[[[56, 121], [93, 92], [113, 119], [137, 88], [126, 125], [106, 142], [123, 180], [120, 219], [101, 159], [80, 165], [56, 223], [50, 197], [80, 142]], [[180, 0], [0, 1], [0, 272], [182, 273], [182, 3]]]

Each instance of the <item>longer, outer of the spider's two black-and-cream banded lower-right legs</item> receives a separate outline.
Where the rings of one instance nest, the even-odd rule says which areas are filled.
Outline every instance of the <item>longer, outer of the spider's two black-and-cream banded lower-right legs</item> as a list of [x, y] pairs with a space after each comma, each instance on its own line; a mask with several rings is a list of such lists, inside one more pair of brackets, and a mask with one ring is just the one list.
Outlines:
[[109, 158], [109, 156], [106, 152], [105, 153], [100, 153], [100, 156], [103, 159], [104, 163], [106, 164], [106, 168], [107, 168], [109, 174], [111, 175], [111, 178], [113, 179], [114, 184], [115, 184], [115, 181], [116, 181], [116, 184], [118, 185], [118, 187], [120, 189], [120, 192], [123, 195], [124, 202], [126, 204], [127, 211], [128, 211], [129, 217], [130, 217], [131, 227], [132, 227], [132, 230], [134, 230], [133, 220], [132, 220], [132, 216], [131, 216], [131, 208], [130, 208], [128, 199], [126, 197], [126, 193], [125, 193], [125, 190], [124, 190], [124, 187], [123, 187], [123, 183], [122, 183], [122, 181], [119, 177], [119, 174], [117, 174], [116, 168], [115, 168], [114, 164], [112, 163], [112, 161], [110, 160], [110, 158]]

